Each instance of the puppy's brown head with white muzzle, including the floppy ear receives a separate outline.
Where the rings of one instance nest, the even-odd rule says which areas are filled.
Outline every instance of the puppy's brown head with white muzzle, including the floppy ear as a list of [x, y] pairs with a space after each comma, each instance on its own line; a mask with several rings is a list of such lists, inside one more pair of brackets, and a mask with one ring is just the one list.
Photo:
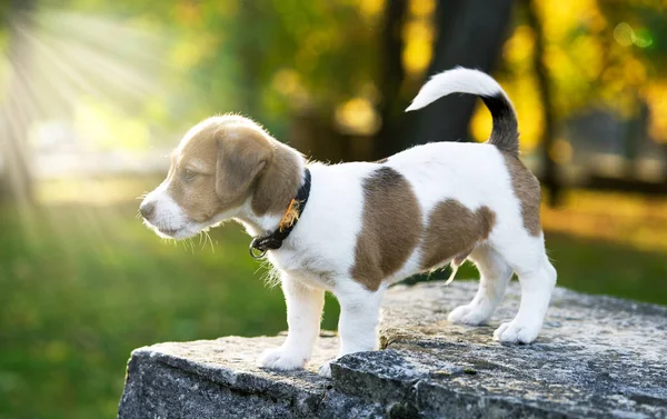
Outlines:
[[167, 179], [141, 202], [145, 223], [161, 237], [185, 239], [237, 217], [273, 159], [273, 141], [242, 117], [195, 126], [172, 153]]

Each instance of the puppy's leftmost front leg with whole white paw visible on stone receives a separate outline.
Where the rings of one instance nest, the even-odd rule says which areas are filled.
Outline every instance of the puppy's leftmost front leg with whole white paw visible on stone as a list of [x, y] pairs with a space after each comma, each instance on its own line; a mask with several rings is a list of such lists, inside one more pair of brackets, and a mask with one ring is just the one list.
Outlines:
[[285, 343], [261, 355], [260, 367], [280, 370], [300, 369], [308, 363], [319, 335], [325, 290], [306, 286], [282, 275], [287, 303], [288, 332]]

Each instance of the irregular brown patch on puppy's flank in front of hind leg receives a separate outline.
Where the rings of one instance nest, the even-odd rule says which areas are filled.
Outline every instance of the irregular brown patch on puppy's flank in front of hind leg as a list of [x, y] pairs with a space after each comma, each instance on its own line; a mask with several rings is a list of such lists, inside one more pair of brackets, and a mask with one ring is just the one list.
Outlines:
[[460, 265], [475, 246], [489, 237], [496, 215], [488, 207], [475, 212], [454, 199], [439, 202], [428, 217], [420, 267], [436, 268], [450, 259]]

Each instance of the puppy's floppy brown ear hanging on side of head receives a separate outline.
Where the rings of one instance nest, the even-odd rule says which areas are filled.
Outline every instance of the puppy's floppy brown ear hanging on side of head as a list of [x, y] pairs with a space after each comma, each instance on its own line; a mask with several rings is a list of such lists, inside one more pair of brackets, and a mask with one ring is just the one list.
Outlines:
[[217, 136], [216, 193], [225, 203], [239, 202], [273, 158], [271, 142], [262, 132], [229, 127]]

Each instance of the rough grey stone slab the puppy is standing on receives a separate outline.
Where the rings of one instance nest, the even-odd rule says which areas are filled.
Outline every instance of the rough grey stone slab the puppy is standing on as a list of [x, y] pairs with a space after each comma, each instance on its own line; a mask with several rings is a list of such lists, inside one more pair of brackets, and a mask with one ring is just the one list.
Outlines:
[[322, 337], [305, 371], [256, 367], [283, 337], [159, 343], [132, 352], [119, 418], [666, 418], [667, 308], [557, 289], [530, 346], [491, 339], [518, 307], [508, 290], [489, 326], [447, 322], [476, 282], [392, 288], [384, 350], [344, 357]]

